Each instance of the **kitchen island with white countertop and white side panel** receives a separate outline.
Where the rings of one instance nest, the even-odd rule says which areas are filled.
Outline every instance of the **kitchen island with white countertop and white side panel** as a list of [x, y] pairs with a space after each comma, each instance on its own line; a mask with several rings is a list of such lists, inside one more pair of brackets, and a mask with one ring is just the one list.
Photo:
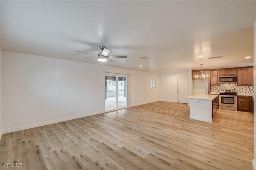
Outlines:
[[190, 103], [190, 119], [212, 122], [218, 110], [218, 95], [196, 94], [187, 98]]

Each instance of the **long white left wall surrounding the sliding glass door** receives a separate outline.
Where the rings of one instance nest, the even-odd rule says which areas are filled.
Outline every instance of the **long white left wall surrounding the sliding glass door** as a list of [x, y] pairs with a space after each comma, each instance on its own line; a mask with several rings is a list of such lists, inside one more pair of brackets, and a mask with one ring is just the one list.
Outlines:
[[104, 71], [130, 74], [130, 106], [160, 99], [159, 74], [7, 51], [1, 57], [4, 133], [103, 112]]

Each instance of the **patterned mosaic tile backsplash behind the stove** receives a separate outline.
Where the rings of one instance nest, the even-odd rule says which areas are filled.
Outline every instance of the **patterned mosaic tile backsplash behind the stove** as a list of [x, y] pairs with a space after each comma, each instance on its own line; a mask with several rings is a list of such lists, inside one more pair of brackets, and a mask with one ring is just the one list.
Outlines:
[[237, 86], [236, 83], [220, 83], [220, 86], [211, 86], [211, 94], [219, 94], [220, 89], [237, 90], [237, 95], [252, 96], [254, 95], [253, 86]]

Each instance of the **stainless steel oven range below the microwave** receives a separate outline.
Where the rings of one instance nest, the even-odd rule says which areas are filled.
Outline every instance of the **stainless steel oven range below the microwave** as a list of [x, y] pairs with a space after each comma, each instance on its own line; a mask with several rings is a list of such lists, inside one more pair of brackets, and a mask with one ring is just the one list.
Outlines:
[[225, 110], [236, 111], [237, 107], [237, 96], [232, 95], [219, 95], [219, 108]]

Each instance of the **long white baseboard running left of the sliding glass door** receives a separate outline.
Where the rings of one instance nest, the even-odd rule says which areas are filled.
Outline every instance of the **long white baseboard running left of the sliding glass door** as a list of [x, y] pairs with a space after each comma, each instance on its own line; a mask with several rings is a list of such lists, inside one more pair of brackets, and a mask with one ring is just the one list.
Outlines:
[[45, 121], [45, 122], [38, 122], [38, 123], [34, 123], [34, 124], [28, 124], [28, 125], [23, 125], [23, 126], [17, 126], [17, 127], [14, 127], [14, 128], [8, 128], [8, 129], [2, 130], [1, 137], [2, 137], [2, 134], [6, 134], [6, 133], [10, 133], [10, 132], [16, 132], [16, 131], [19, 131], [19, 130], [36, 128], [36, 127], [39, 127], [39, 126], [45, 126], [45, 125], [48, 125], [48, 124], [63, 122], [63, 121], [82, 118], [82, 117], [86, 117], [86, 116], [92, 116], [92, 115], [101, 114], [101, 113], [104, 113], [104, 111], [91, 112], [91, 113], [80, 114], [80, 115], [76, 115], [76, 116], [70, 116], [70, 117], [66, 117], [66, 118], [48, 120], [48, 121]]

